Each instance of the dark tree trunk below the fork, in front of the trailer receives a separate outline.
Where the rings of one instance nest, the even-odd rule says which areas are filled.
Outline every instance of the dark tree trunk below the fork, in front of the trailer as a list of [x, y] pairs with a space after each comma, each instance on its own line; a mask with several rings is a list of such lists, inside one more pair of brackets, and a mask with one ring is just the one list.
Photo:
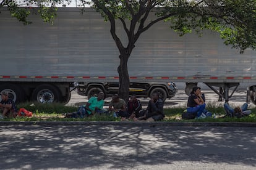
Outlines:
[[[129, 53], [130, 54], [130, 53]], [[129, 73], [127, 68], [127, 63], [129, 59], [129, 54], [121, 54], [120, 58], [120, 65], [117, 69], [119, 73], [119, 97], [124, 99], [126, 102], [129, 100]]]

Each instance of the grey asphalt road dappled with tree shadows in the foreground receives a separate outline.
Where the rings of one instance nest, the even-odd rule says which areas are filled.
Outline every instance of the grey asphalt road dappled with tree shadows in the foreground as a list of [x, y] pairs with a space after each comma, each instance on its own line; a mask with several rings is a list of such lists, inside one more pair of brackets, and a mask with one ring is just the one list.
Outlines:
[[256, 169], [254, 127], [1, 126], [0, 169]]

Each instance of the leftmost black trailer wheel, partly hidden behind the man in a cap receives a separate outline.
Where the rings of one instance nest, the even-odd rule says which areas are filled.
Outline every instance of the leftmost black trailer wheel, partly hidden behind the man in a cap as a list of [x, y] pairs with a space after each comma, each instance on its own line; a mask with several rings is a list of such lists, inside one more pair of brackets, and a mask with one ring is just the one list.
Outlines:
[[9, 98], [14, 100], [15, 103], [25, 102], [26, 97], [22, 87], [16, 84], [1, 84], [0, 93], [3, 91], [7, 91], [9, 93]]

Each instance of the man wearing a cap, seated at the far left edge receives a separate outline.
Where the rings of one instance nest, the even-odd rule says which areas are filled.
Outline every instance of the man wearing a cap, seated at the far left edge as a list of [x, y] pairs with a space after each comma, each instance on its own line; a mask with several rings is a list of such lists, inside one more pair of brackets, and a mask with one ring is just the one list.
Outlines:
[[1, 92], [1, 99], [2, 100], [0, 102], [0, 111], [2, 113], [2, 116], [8, 118], [15, 118], [15, 116], [17, 115], [17, 108], [14, 100], [9, 99], [8, 92]]

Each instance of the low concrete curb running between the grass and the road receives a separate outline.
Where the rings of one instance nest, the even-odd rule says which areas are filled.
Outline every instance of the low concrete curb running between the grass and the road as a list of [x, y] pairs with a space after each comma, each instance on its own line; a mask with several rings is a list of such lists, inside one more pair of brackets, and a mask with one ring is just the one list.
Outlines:
[[222, 127], [256, 127], [256, 123], [229, 123], [229, 122], [129, 122], [129, 121], [0, 121], [0, 126], [10, 125], [38, 125], [38, 126], [74, 126], [74, 125], [101, 125], [101, 126], [222, 126]]

